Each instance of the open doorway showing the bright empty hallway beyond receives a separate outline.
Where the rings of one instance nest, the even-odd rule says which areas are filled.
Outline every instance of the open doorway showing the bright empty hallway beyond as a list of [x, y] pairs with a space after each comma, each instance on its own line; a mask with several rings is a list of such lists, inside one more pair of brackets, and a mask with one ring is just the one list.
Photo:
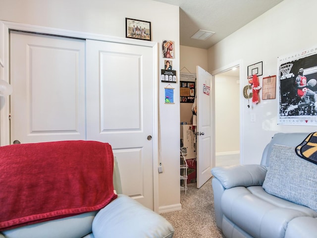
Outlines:
[[240, 164], [240, 68], [215, 74], [215, 166]]

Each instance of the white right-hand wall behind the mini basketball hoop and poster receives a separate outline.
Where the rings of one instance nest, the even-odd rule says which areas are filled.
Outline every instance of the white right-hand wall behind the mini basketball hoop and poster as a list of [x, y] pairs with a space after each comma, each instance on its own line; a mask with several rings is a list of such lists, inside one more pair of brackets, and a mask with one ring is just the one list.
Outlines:
[[[276, 99], [263, 100], [247, 107], [242, 96], [247, 85], [247, 66], [263, 61], [263, 76], [277, 75], [277, 57], [317, 45], [316, 0], [284, 0], [263, 15], [228, 36], [208, 51], [208, 70], [217, 70], [242, 60], [242, 159], [244, 164], [260, 163], [263, 149], [276, 132], [311, 132], [313, 126], [277, 125], [279, 106]], [[260, 82], [262, 83], [262, 77]], [[262, 94], [260, 94], [262, 95]], [[251, 114], [255, 122], [251, 122]]]

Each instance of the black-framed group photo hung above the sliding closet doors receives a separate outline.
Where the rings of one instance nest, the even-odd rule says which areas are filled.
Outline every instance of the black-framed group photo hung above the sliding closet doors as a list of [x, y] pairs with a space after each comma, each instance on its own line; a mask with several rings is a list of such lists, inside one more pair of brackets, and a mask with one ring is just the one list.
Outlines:
[[125, 37], [151, 41], [151, 22], [125, 18]]

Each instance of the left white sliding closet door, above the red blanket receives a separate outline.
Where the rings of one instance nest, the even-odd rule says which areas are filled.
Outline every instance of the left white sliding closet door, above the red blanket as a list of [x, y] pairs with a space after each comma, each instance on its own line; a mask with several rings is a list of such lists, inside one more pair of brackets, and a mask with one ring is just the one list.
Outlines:
[[85, 139], [85, 40], [10, 32], [10, 137]]

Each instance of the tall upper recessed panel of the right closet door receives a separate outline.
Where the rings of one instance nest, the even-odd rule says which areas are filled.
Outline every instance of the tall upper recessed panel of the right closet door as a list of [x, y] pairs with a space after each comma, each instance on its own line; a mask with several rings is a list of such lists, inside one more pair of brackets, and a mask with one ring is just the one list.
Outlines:
[[101, 52], [100, 60], [101, 131], [140, 130], [140, 56]]

